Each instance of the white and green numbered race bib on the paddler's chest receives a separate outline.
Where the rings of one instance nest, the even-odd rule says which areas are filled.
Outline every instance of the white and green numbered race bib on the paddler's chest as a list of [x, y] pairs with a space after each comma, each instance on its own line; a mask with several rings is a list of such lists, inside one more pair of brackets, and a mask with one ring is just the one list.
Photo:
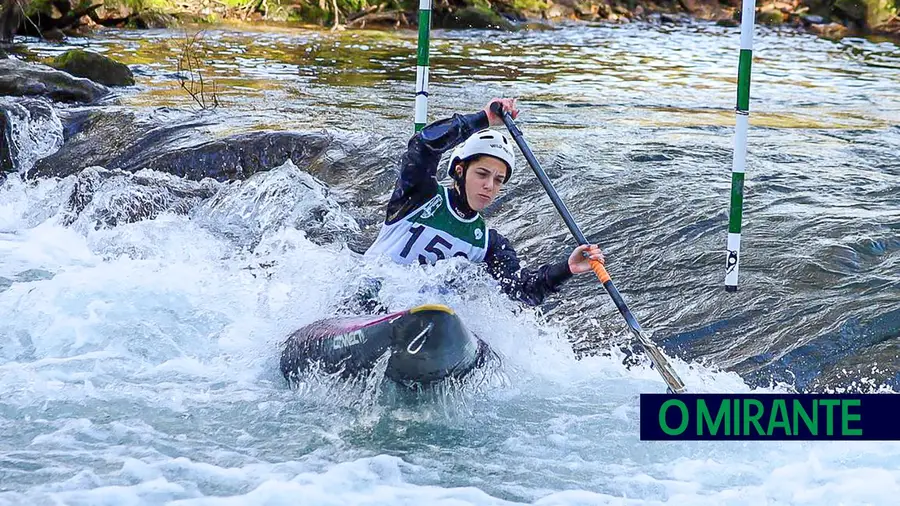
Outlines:
[[487, 225], [480, 214], [465, 219], [450, 207], [447, 188], [400, 220], [381, 226], [366, 256], [387, 255], [399, 264], [434, 264], [461, 256], [472, 262], [484, 261], [487, 252]]

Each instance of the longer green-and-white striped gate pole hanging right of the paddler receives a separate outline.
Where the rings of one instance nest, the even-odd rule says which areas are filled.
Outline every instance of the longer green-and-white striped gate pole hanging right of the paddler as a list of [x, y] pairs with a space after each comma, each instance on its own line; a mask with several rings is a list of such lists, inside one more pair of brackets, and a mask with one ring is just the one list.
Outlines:
[[741, 215], [744, 212], [744, 168], [747, 164], [747, 129], [750, 125], [750, 64], [753, 61], [753, 24], [756, 1], [743, 0], [741, 7], [741, 57], [738, 63], [738, 99], [734, 110], [734, 158], [731, 165], [731, 210], [728, 215], [728, 256], [725, 260], [725, 291], [737, 291], [741, 254]]

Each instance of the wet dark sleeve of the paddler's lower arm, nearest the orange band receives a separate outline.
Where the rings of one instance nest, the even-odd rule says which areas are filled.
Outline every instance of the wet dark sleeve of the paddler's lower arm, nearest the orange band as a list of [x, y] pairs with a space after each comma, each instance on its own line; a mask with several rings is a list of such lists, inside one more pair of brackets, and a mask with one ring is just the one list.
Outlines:
[[488, 251], [484, 261], [488, 272], [500, 282], [507, 295], [530, 306], [544, 302], [548, 294], [559, 291], [560, 286], [572, 277], [566, 260], [542, 265], [537, 270], [523, 269], [516, 250], [493, 229], [488, 231]]

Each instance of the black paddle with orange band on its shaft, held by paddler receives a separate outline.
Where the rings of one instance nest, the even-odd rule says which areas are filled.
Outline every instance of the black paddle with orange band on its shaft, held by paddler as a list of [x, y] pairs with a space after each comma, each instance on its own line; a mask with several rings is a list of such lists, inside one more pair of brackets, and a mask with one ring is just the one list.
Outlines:
[[[556, 189], [553, 188], [553, 184], [550, 182], [550, 179], [547, 178], [547, 174], [544, 173], [541, 164], [538, 163], [537, 159], [534, 157], [534, 153], [531, 152], [528, 144], [525, 143], [525, 139], [522, 138], [522, 132], [519, 130], [519, 127], [516, 126], [512, 116], [509, 112], [503, 110], [503, 106], [500, 105], [499, 102], [491, 104], [491, 112], [503, 119], [503, 123], [506, 125], [506, 128], [509, 129], [509, 133], [512, 134], [519, 149], [522, 150], [525, 159], [528, 160], [528, 165], [531, 166], [531, 169], [534, 171], [538, 180], [540, 180], [544, 190], [547, 191], [547, 195], [550, 196], [550, 200], [553, 201], [553, 205], [556, 206], [556, 210], [559, 211], [559, 215], [562, 216], [563, 221], [566, 222], [566, 226], [569, 227], [569, 231], [575, 236], [578, 244], [588, 244], [584, 234], [581, 233], [578, 225], [575, 224], [575, 220], [572, 219], [572, 215], [569, 214], [569, 210], [566, 209], [566, 205], [559, 199]], [[634, 334], [634, 337], [637, 338], [638, 342], [644, 348], [644, 351], [650, 357], [650, 361], [653, 363], [657, 372], [659, 372], [660, 376], [662, 376], [663, 380], [666, 382], [666, 385], [668, 385], [669, 393], [684, 393], [684, 382], [681, 381], [681, 378], [675, 373], [675, 369], [669, 364], [669, 361], [666, 359], [666, 356], [662, 354], [662, 351], [660, 351], [660, 349], [644, 335], [644, 331], [641, 330], [641, 326], [634, 318], [634, 315], [631, 314], [631, 311], [625, 304], [625, 300], [622, 299], [619, 291], [616, 290], [616, 286], [613, 285], [609, 273], [606, 272], [606, 267], [597, 260], [591, 260], [591, 269], [597, 275], [600, 282], [603, 283], [603, 288], [606, 289], [606, 293], [609, 294], [613, 303], [615, 303], [616, 307], [619, 309], [619, 313], [621, 313], [625, 318], [625, 321], [628, 322], [628, 326], [631, 327], [631, 332]]]

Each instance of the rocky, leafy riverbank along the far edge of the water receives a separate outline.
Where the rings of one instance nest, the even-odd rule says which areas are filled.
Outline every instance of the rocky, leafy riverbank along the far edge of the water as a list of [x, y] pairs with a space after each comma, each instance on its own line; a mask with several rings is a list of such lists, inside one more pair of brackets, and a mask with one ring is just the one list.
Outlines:
[[[438, 0], [433, 25], [516, 30], [561, 21], [677, 23], [688, 18], [734, 25], [740, 5], [740, 0]], [[389, 29], [415, 27], [418, 20], [414, 0], [2, 0], [0, 9], [0, 41], [14, 33], [61, 39], [101, 26], [240, 20]], [[827, 37], [900, 37], [898, 0], [764, 0], [757, 3], [757, 22]]]

